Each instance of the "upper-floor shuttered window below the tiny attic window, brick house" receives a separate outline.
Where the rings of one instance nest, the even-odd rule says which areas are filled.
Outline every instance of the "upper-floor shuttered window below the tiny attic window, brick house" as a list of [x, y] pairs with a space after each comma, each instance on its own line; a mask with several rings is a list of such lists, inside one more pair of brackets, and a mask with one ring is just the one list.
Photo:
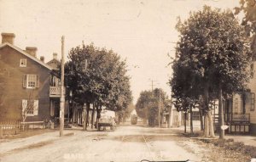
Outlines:
[[24, 75], [23, 87], [26, 87], [26, 88], [39, 87], [39, 75]]

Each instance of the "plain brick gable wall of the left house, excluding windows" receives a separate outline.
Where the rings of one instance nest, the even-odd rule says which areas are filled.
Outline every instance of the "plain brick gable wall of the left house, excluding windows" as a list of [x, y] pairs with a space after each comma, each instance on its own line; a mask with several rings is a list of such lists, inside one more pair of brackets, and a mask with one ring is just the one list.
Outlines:
[[[26, 59], [26, 67], [20, 67], [20, 59]], [[14, 48], [6, 46], [0, 49], [0, 118], [1, 120], [21, 120], [21, 101], [27, 99], [31, 89], [22, 86], [23, 75], [39, 75], [39, 88], [34, 90], [34, 99], [38, 99], [38, 115], [27, 120], [49, 120], [49, 76], [50, 70], [38, 64]]]

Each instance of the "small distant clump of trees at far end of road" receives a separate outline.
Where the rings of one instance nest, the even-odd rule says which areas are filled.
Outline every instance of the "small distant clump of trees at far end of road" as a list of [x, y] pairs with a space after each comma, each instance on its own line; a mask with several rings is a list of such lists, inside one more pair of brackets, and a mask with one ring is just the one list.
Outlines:
[[155, 88], [153, 91], [143, 91], [136, 103], [137, 115], [143, 120], [148, 120], [148, 126], [155, 126], [163, 120], [163, 109], [168, 107], [170, 100], [167, 99], [166, 92]]

